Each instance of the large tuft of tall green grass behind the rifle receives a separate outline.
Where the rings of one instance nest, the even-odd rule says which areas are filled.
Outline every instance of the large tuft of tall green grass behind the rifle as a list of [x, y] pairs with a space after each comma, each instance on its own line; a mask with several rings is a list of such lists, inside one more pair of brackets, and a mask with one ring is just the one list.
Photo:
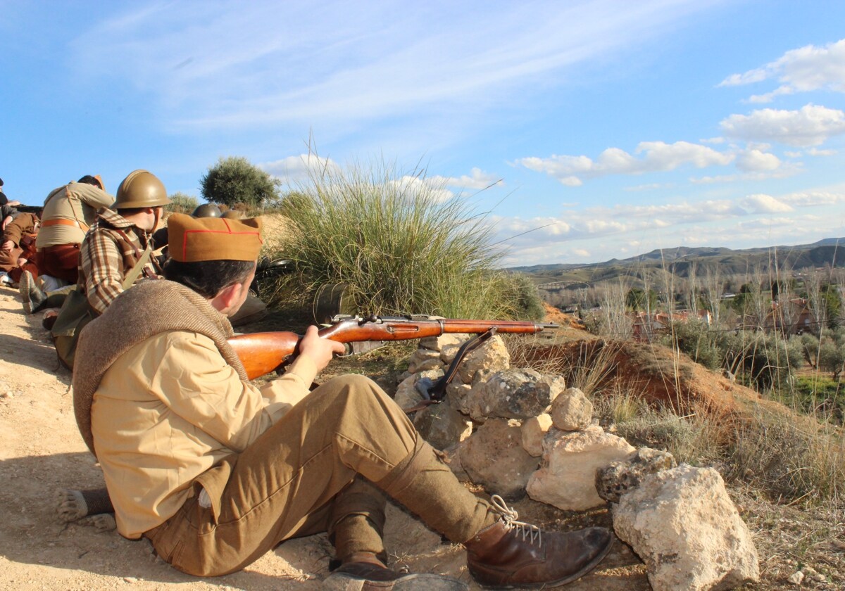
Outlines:
[[423, 171], [400, 176], [386, 165], [324, 169], [286, 198], [281, 213], [290, 237], [275, 254], [291, 259], [297, 273], [277, 295], [291, 285], [303, 295], [341, 283], [357, 309], [368, 313], [526, 313], [525, 290], [497, 270], [503, 252], [490, 246], [485, 216]]

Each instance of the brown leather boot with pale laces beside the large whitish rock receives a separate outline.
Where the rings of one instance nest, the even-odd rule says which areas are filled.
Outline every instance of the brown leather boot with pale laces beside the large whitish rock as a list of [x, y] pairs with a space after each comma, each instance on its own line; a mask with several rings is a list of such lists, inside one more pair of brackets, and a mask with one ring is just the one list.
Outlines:
[[604, 528], [542, 532], [516, 521], [519, 515], [498, 495], [491, 497], [502, 518], [464, 542], [472, 577], [494, 588], [559, 587], [590, 572], [613, 545]]

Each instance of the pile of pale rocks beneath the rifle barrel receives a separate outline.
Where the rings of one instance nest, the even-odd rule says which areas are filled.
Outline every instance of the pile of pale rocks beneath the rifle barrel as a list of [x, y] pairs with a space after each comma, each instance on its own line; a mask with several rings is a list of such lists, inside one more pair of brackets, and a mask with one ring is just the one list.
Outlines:
[[498, 336], [471, 355], [442, 404], [424, 402], [462, 340], [423, 339], [395, 400], [461, 480], [490, 493], [582, 511], [611, 503], [613, 529], [646, 563], [651, 586], [728, 589], [757, 581], [750, 532], [715, 469], [677, 466], [605, 432], [564, 378], [510, 367]]

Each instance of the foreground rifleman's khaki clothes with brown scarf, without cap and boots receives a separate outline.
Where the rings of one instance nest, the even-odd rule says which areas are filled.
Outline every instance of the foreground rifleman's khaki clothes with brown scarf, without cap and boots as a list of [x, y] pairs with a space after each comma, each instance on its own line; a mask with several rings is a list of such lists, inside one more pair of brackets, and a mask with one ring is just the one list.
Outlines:
[[213, 576], [319, 531], [341, 558], [384, 556], [376, 486], [458, 542], [493, 523], [374, 382], [346, 376], [308, 393], [315, 368], [300, 357], [254, 388], [231, 334], [208, 301], [166, 280], [124, 292], [82, 332], [74, 408], [121, 534]]

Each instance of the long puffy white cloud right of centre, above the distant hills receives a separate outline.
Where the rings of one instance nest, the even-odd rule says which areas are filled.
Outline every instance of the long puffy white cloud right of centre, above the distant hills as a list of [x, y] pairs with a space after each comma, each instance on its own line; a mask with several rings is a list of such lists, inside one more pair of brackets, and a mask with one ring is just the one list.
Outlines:
[[[638, 158], [637, 156], [641, 156]], [[682, 165], [705, 168], [727, 165], [733, 155], [722, 154], [712, 148], [690, 142], [641, 142], [634, 155], [619, 148], [608, 148], [596, 160], [587, 156], [552, 155], [549, 158], [531, 156], [517, 160], [517, 164], [537, 172], [545, 172], [564, 185], [575, 187], [584, 179], [609, 175], [639, 175], [646, 172], [673, 171]]]

